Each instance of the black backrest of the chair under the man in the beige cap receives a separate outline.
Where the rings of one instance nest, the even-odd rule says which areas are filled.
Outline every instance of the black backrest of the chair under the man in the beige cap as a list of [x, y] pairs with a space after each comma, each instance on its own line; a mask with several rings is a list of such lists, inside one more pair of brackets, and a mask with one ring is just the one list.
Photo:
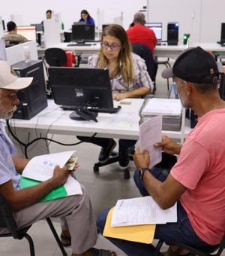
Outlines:
[[10, 206], [2, 194], [0, 194], [0, 227], [7, 227], [13, 238], [17, 239], [17, 223]]

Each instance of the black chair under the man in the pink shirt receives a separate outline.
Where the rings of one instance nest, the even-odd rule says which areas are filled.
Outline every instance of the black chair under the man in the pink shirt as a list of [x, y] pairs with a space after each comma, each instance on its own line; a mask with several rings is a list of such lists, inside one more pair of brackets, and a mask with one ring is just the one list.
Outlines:
[[[162, 245], [163, 245], [163, 240], [160, 240], [157, 243], [156, 250], [154, 251], [154, 256], [159, 254], [159, 251], [160, 251], [160, 248]], [[178, 246], [181, 248], [187, 249], [187, 251], [190, 251], [193, 255], [219, 256], [222, 254], [223, 249], [225, 248], [225, 235], [223, 236], [221, 242], [218, 245], [208, 245], [208, 246], [204, 246], [204, 247], [199, 247], [199, 246], [193, 246], [193, 245], [187, 245], [185, 243], [181, 243], [181, 244], [178, 244]]]

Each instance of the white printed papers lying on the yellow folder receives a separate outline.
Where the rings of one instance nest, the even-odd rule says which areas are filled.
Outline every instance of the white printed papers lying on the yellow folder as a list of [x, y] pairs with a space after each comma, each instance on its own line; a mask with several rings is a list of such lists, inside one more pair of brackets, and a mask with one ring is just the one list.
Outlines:
[[113, 211], [112, 227], [143, 224], [166, 224], [177, 221], [177, 209], [162, 210], [152, 197], [118, 200]]

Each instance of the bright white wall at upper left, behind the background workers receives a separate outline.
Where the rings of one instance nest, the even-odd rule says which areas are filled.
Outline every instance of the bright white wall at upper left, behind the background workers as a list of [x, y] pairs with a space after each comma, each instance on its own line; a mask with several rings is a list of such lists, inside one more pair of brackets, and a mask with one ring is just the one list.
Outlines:
[[80, 11], [86, 9], [94, 18], [96, 26], [101, 28], [102, 23], [113, 23], [113, 19], [121, 16], [123, 11], [123, 26], [127, 28], [133, 21], [133, 14], [141, 10], [144, 5], [146, 0], [11, 0], [1, 1], [0, 16], [7, 23], [10, 15], [13, 14], [19, 20], [21, 20], [19, 17], [22, 17], [23, 24], [17, 25], [29, 25], [40, 23], [45, 19], [46, 10], [51, 9], [55, 13], [62, 14], [65, 29], [69, 29], [74, 21], [80, 20]]

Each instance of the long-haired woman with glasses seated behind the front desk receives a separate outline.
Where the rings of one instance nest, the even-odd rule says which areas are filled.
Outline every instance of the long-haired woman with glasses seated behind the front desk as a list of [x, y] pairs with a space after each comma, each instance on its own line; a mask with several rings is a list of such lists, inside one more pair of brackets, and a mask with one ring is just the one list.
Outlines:
[[[153, 90], [145, 61], [131, 53], [127, 33], [120, 25], [109, 25], [104, 29], [101, 50], [89, 58], [89, 66], [109, 70], [115, 100], [139, 98]], [[87, 141], [86, 137], [77, 138]], [[100, 163], [107, 163], [116, 145], [114, 139], [91, 138], [89, 142], [101, 146], [98, 160]], [[132, 151], [135, 143], [134, 140], [119, 140], [118, 162], [122, 169], [129, 165], [130, 149]]]

